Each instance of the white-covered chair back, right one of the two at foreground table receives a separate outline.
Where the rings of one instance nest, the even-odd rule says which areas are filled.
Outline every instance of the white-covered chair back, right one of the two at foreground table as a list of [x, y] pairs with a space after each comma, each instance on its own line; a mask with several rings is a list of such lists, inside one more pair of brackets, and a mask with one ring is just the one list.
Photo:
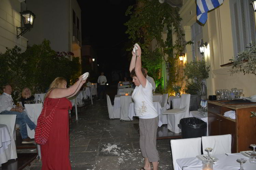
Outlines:
[[207, 154], [205, 148], [212, 148], [212, 155], [231, 153], [232, 136], [216, 135], [216, 136], [202, 136], [203, 154]]

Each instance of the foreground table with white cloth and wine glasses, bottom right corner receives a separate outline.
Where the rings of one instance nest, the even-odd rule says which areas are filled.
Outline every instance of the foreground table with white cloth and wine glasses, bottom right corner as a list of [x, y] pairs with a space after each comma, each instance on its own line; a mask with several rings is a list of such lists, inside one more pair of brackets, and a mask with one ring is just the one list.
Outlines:
[[[227, 155], [221, 154], [213, 156], [218, 158], [218, 160], [214, 162], [214, 170], [239, 170], [240, 163], [237, 162], [238, 158], [247, 160], [246, 163], [243, 164], [244, 170], [256, 169], [256, 165], [249, 162], [249, 157], [241, 153], [228, 153]], [[202, 170], [202, 160], [199, 160], [197, 157], [177, 159], [174, 170]]]

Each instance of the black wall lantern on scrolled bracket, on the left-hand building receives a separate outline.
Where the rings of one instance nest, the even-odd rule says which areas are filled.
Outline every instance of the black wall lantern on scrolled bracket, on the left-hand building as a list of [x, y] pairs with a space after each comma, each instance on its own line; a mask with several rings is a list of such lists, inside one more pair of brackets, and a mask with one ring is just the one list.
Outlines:
[[26, 10], [20, 12], [20, 17], [20, 25], [23, 27], [16, 27], [17, 38], [19, 38], [20, 35], [25, 34], [27, 31], [30, 31], [30, 29], [33, 28], [35, 14], [32, 13], [31, 11]]

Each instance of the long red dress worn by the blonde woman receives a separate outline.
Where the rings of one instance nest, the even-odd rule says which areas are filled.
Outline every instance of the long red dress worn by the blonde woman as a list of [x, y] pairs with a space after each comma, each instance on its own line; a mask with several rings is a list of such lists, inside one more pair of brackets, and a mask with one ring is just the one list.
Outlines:
[[[72, 108], [67, 98], [48, 98], [45, 116], [49, 116], [56, 107], [52, 125], [46, 123], [49, 137], [45, 145], [41, 145], [42, 170], [71, 170], [69, 161], [69, 116], [68, 110]], [[58, 104], [57, 104], [58, 103]]]

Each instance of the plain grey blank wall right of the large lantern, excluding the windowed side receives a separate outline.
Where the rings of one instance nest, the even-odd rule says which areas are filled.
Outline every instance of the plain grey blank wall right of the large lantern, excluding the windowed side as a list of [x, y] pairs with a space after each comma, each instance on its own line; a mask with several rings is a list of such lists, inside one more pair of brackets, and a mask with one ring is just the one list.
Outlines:
[[36, 16], [33, 29], [24, 35], [29, 39], [28, 44], [41, 44], [48, 39], [53, 50], [71, 51], [69, 0], [26, 0], [26, 3]]

